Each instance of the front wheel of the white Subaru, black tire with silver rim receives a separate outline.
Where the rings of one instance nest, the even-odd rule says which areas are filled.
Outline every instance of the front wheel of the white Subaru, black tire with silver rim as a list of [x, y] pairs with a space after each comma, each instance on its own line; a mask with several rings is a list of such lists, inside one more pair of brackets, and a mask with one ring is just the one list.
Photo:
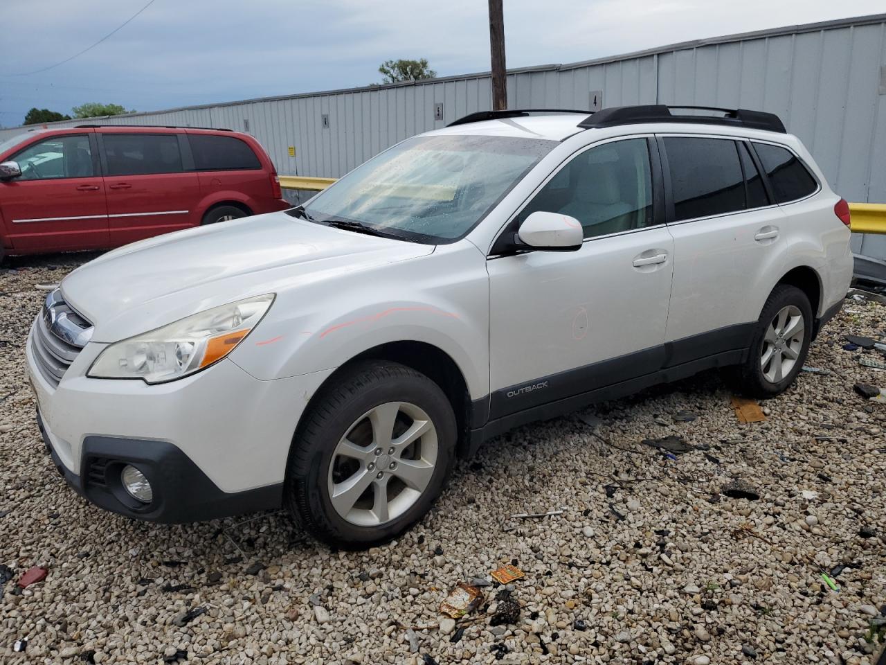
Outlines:
[[[404, 432], [427, 422], [430, 429], [402, 445]], [[391, 434], [385, 423], [392, 423]], [[305, 414], [292, 442], [284, 505], [332, 546], [386, 543], [431, 509], [455, 464], [456, 437], [447, 396], [424, 374], [396, 363], [355, 365]]]

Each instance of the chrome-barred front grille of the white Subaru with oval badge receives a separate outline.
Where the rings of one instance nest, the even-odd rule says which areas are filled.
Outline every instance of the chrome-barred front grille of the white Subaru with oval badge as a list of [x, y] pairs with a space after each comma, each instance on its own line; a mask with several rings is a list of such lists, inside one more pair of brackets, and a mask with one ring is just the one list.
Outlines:
[[92, 336], [92, 325], [71, 309], [56, 289], [46, 296], [31, 335], [31, 351], [43, 379], [53, 386]]

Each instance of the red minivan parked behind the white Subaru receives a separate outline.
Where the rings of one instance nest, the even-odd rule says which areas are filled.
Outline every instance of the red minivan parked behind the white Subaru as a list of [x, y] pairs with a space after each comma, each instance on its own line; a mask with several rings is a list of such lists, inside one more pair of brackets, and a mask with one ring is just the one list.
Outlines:
[[0, 142], [0, 259], [287, 207], [268, 154], [229, 129], [78, 125]]

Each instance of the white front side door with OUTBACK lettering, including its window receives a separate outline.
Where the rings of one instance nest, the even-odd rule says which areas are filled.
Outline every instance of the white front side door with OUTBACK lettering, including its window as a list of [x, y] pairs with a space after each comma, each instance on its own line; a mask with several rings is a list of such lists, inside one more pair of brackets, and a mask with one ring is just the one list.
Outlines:
[[[671, 297], [655, 144], [616, 139], [574, 155], [507, 227], [536, 210], [579, 220], [572, 252], [491, 255], [490, 419], [657, 372]], [[493, 252], [495, 247], [493, 248]]]

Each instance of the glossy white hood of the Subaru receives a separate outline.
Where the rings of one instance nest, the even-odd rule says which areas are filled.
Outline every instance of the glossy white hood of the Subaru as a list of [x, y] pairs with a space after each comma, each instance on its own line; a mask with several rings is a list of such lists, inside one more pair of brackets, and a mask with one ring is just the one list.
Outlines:
[[95, 326], [94, 341], [117, 341], [216, 305], [433, 250], [277, 212], [120, 247], [74, 270], [61, 290]]

